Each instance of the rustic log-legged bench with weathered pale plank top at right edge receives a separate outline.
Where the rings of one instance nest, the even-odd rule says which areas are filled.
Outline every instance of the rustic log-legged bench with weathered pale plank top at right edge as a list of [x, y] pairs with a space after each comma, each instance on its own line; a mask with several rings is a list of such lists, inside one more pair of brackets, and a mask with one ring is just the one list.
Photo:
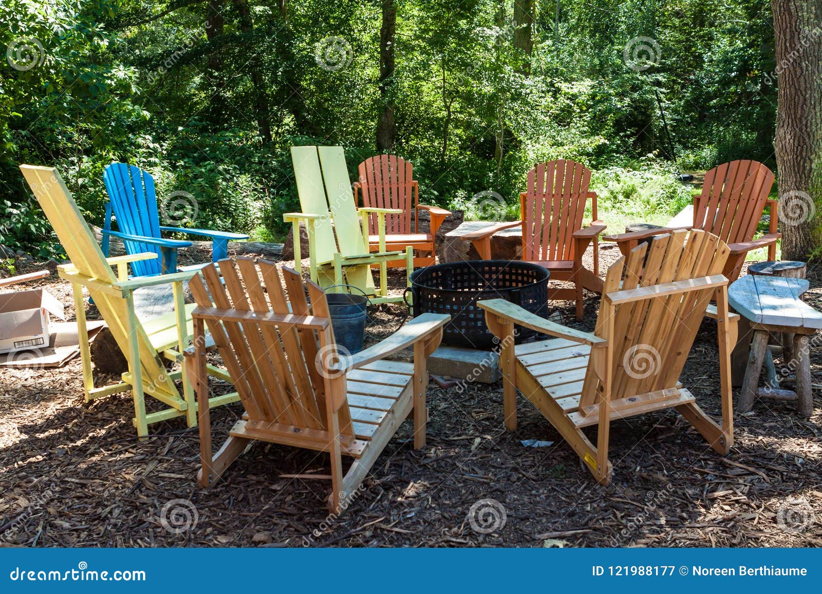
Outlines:
[[[747, 275], [728, 288], [729, 304], [750, 323], [753, 340], [742, 382], [737, 412], [748, 412], [755, 398], [797, 402], [797, 411], [810, 417], [813, 396], [810, 385], [810, 336], [822, 329], [822, 312], [801, 300], [808, 290], [805, 279]], [[787, 366], [796, 374], [796, 391], [776, 386], [759, 388], [760, 371], [768, 351], [769, 334], [793, 334], [792, 359]]]

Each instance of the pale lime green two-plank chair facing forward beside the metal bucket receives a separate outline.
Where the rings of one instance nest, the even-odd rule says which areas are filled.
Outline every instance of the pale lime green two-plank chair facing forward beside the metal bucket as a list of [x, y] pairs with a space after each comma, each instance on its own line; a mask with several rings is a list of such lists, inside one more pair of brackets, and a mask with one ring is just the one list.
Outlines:
[[[293, 225], [294, 260], [300, 271], [302, 221], [308, 232], [310, 271], [315, 283], [322, 288], [352, 285], [371, 297], [372, 303], [401, 301], [401, 296], [388, 297], [387, 262], [405, 260], [408, 278], [413, 272], [413, 250], [386, 251], [386, 214], [402, 211], [357, 209], [341, 146], [293, 146], [291, 159], [302, 212], [286, 213], [283, 219]], [[369, 214], [377, 215], [380, 237], [380, 251], [372, 253], [368, 246]], [[379, 287], [371, 274], [372, 264], [380, 266]]]

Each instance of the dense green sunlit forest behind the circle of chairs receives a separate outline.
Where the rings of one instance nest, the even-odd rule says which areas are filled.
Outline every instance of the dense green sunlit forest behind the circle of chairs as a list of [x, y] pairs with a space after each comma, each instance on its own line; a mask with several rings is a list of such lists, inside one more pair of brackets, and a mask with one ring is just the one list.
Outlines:
[[[0, 243], [53, 249], [19, 163], [53, 164], [101, 224], [103, 168], [196, 197], [197, 226], [282, 237], [293, 144], [411, 159], [428, 204], [579, 160], [611, 209], [664, 213], [676, 173], [775, 170], [758, 0], [3, 0]], [[674, 160], [676, 159], [676, 161]], [[473, 213], [475, 214], [475, 213]]]

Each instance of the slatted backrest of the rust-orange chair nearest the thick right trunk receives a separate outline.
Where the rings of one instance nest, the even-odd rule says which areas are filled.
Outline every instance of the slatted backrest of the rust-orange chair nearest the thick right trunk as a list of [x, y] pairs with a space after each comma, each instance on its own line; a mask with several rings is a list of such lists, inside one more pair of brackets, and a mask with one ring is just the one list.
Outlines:
[[696, 200], [694, 227], [726, 243], [750, 242], [773, 185], [774, 173], [756, 161], [731, 161], [711, 169]]

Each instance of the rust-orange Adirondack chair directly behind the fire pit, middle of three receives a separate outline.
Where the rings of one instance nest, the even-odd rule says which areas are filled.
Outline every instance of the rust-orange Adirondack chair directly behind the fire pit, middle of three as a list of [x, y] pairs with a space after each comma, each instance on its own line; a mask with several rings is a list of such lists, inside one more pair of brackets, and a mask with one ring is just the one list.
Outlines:
[[[597, 237], [605, 224], [597, 220], [597, 194], [589, 191], [591, 171], [580, 163], [559, 159], [540, 163], [528, 172], [528, 190], [520, 194], [522, 219], [501, 223], [463, 236], [480, 257], [491, 259], [491, 236], [501, 229], [522, 226], [522, 259], [544, 266], [554, 280], [574, 283], [574, 288], [548, 290], [548, 299], [576, 302], [576, 317], [582, 319], [583, 288], [602, 292], [599, 278]], [[583, 228], [585, 205], [591, 199], [593, 221]], [[582, 256], [593, 241], [593, 271], [584, 267]]]

